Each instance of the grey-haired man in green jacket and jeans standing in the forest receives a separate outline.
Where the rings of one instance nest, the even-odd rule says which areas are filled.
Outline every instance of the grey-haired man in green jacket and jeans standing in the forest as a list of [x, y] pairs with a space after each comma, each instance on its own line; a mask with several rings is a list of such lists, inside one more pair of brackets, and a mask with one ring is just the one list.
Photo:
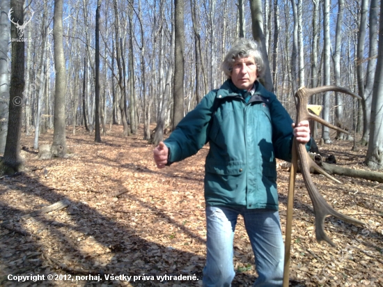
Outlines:
[[154, 159], [162, 169], [210, 143], [204, 181], [208, 233], [203, 286], [230, 286], [235, 276], [233, 238], [238, 215], [244, 217], [256, 258], [254, 286], [282, 286], [276, 157], [291, 160], [293, 137], [308, 148], [308, 121], [295, 127], [276, 96], [258, 82], [264, 63], [257, 42], [236, 42], [222, 69], [226, 82], [205, 95], [169, 139], [159, 143]]

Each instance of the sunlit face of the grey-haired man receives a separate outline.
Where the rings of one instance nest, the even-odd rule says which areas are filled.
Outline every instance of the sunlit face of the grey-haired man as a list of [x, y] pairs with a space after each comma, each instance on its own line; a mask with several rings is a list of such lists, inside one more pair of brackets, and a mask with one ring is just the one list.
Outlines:
[[231, 80], [237, 88], [250, 91], [257, 76], [257, 65], [252, 56], [235, 59], [231, 71]]

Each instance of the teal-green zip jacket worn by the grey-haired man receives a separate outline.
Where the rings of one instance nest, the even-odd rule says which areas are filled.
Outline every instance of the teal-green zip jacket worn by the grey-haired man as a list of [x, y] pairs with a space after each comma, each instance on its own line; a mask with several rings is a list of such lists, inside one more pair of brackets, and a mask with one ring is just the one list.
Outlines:
[[[276, 157], [291, 160], [292, 119], [259, 82], [248, 103], [246, 93], [227, 80], [205, 95], [164, 141], [170, 150], [168, 164], [196, 154], [208, 141], [208, 205], [278, 210]], [[214, 112], [215, 98], [221, 102]]]

